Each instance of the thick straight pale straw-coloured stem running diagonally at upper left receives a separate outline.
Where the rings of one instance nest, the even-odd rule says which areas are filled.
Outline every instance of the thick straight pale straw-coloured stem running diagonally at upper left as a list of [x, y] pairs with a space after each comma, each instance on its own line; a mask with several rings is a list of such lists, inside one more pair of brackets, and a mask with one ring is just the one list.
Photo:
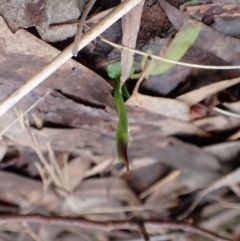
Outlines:
[[[83, 34], [78, 51], [85, 47], [88, 43], [94, 40], [124, 14], [134, 8], [141, 0], [125, 0], [107, 14], [101, 21], [95, 24], [89, 31]], [[11, 107], [13, 107], [20, 99], [32, 91], [64, 63], [66, 63], [73, 55], [72, 50], [74, 43], [64, 49], [56, 58], [54, 58], [47, 66], [37, 72], [32, 78], [26, 81], [25, 84], [13, 91], [9, 96], [0, 102], [0, 115], [3, 115]]]

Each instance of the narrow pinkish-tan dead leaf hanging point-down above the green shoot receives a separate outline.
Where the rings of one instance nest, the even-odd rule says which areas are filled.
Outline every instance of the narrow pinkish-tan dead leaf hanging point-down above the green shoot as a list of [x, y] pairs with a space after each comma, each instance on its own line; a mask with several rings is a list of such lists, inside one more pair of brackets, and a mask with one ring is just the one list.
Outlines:
[[[137, 35], [141, 23], [141, 16], [144, 1], [142, 0], [135, 8], [128, 12], [122, 18], [122, 44], [124, 46], [135, 48]], [[121, 84], [129, 77], [129, 73], [133, 63], [133, 53], [127, 50], [121, 52]]]

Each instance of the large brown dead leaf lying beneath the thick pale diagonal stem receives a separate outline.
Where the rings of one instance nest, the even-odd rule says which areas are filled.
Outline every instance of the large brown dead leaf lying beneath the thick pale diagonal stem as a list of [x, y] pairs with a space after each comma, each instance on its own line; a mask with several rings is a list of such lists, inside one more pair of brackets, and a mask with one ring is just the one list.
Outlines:
[[[0, 18], [0, 43], [1, 100], [59, 54], [59, 50], [25, 30], [13, 34], [2, 18]], [[76, 69], [77, 74], [74, 73]], [[17, 107], [27, 109], [31, 103], [51, 89], [57, 89], [64, 95], [96, 106], [104, 106], [103, 103], [107, 101], [106, 96], [111, 95], [112, 91], [111, 86], [99, 75], [80, 63], [69, 60], [41, 86], [35, 88], [32, 94], [23, 98]]]

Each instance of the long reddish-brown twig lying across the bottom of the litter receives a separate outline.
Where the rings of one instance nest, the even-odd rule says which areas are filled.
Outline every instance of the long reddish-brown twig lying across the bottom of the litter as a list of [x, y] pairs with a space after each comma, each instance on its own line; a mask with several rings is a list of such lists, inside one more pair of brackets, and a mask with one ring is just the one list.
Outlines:
[[[33, 222], [48, 225], [67, 225], [75, 226], [83, 229], [93, 229], [99, 231], [110, 232], [112, 230], [128, 229], [138, 230], [137, 221], [111, 221], [111, 222], [94, 222], [81, 218], [67, 218], [59, 216], [44, 216], [44, 215], [0, 215], [0, 224], [7, 223], [19, 223], [19, 222]], [[177, 221], [144, 221], [146, 228], [155, 230], [159, 229], [172, 229], [172, 230], [183, 230], [185, 232], [195, 233], [213, 241], [230, 241], [227, 238], [218, 236], [205, 229], [196, 227], [192, 224]]]

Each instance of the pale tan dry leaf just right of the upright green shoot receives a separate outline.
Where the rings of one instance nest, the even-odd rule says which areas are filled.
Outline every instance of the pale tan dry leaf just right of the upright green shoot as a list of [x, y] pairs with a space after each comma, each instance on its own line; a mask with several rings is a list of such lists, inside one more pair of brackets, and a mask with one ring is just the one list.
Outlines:
[[163, 116], [183, 121], [189, 121], [191, 119], [189, 106], [182, 101], [174, 99], [137, 94], [137, 96], [131, 96], [126, 103], [130, 106], [137, 106]]

